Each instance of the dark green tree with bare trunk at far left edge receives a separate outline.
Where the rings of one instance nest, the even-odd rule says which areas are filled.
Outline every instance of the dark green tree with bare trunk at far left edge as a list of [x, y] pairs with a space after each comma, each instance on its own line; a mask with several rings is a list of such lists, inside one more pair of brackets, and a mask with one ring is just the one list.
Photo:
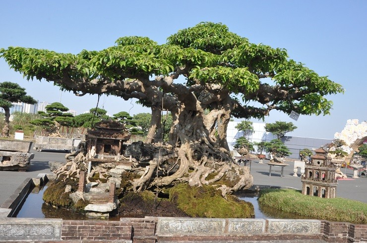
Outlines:
[[25, 89], [20, 87], [16, 83], [11, 82], [2, 82], [0, 83], [0, 107], [2, 107], [5, 111], [5, 123], [2, 128], [2, 137], [9, 137], [10, 130], [10, 107], [11, 102], [24, 102], [27, 104], [36, 104], [37, 100], [35, 100], [31, 96], [27, 96], [27, 92]]

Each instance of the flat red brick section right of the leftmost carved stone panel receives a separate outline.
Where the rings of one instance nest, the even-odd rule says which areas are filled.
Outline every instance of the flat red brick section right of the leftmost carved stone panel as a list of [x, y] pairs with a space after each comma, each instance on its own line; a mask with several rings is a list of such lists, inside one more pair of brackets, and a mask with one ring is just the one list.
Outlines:
[[63, 220], [62, 240], [131, 240], [128, 221]]

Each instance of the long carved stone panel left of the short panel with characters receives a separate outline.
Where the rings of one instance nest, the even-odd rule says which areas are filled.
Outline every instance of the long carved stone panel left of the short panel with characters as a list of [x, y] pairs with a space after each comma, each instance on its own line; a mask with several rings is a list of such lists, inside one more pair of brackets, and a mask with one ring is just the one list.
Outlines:
[[225, 226], [225, 219], [160, 217], [157, 235], [218, 236], [224, 234]]

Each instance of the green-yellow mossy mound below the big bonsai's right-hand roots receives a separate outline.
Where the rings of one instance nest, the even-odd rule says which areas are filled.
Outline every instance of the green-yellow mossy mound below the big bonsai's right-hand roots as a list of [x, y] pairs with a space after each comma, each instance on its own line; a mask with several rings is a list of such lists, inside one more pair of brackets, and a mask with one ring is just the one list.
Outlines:
[[179, 184], [170, 190], [170, 201], [191, 217], [202, 218], [254, 218], [253, 205], [210, 186], [190, 187]]

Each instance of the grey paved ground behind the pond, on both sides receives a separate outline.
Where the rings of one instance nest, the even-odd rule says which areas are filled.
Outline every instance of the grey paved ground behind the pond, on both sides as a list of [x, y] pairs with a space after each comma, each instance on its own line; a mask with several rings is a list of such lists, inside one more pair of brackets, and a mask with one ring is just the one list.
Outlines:
[[[31, 149], [31, 152], [35, 153], [35, 156], [31, 160], [32, 166], [29, 171], [0, 171], [0, 205], [26, 178], [34, 178], [39, 173], [50, 173], [48, 162], [64, 161], [64, 156], [66, 154], [64, 151], [52, 150], [37, 152]], [[279, 172], [272, 172], [271, 177], [269, 177], [269, 166], [265, 164], [268, 160], [264, 160], [263, 162], [264, 164], [259, 164], [258, 160], [252, 161], [251, 175], [253, 176], [254, 185], [283, 186], [299, 190], [302, 189], [301, 177], [293, 176], [293, 162], [287, 162], [290, 165], [285, 167], [284, 177], [280, 177]], [[345, 168], [342, 168], [342, 172], [345, 172]], [[298, 175], [300, 176], [300, 173], [298, 173]], [[351, 178], [353, 170], [350, 169], [347, 169], [346, 175], [348, 176], [348, 180], [339, 180], [339, 185], [336, 189], [337, 197], [344, 197], [367, 203], [367, 178]]]

